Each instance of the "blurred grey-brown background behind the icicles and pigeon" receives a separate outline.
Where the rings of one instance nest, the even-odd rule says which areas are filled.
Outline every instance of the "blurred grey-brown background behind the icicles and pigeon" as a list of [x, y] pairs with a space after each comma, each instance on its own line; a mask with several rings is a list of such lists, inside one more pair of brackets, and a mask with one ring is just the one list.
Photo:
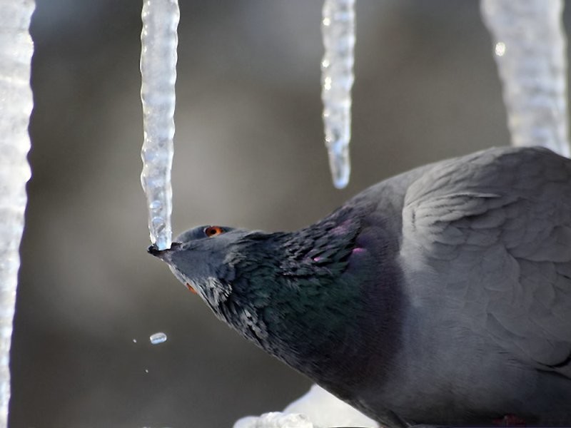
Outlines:
[[[310, 382], [218, 322], [146, 253], [142, 2], [36, 4], [11, 427], [224, 428], [283, 409]], [[335, 190], [321, 4], [181, 0], [176, 233], [293, 230], [390, 175], [508, 143], [477, 1], [358, 0], [353, 173]], [[153, 346], [158, 331], [168, 341]]]

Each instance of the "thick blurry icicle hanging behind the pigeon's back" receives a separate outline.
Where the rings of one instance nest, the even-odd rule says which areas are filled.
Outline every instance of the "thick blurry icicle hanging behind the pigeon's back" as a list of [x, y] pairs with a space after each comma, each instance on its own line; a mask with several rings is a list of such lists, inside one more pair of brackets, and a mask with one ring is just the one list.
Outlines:
[[570, 155], [561, 0], [482, 0], [514, 146]]

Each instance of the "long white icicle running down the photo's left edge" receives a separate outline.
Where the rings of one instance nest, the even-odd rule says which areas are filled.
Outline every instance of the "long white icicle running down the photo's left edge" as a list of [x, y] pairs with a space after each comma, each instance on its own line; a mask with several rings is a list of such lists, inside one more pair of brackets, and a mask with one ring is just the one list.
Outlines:
[[33, 0], [0, 0], [0, 427], [8, 426], [10, 342], [30, 166]]

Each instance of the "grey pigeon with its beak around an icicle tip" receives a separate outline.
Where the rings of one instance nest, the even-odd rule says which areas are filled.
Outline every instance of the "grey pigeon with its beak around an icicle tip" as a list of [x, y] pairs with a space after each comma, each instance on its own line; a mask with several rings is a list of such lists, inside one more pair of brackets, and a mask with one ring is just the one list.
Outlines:
[[571, 425], [571, 160], [490, 148], [317, 223], [149, 253], [216, 317], [385, 427]]

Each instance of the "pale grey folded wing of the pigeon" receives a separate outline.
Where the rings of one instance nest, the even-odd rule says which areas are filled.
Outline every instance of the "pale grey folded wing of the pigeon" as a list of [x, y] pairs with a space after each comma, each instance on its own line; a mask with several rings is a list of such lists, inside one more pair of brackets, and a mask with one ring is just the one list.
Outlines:
[[571, 377], [570, 160], [497, 148], [436, 164], [405, 195], [400, 258], [413, 304], [436, 299], [518, 360]]

